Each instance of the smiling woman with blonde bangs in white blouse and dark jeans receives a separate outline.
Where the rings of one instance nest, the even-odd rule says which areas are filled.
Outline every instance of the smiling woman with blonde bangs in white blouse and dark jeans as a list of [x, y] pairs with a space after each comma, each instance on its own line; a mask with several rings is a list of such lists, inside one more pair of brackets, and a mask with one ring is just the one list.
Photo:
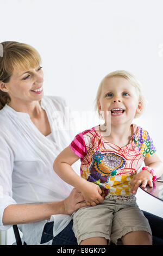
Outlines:
[[[33, 47], [12, 41], [2, 46], [0, 229], [18, 224], [27, 245], [77, 245], [70, 214], [86, 203], [53, 171], [55, 157], [74, 138], [73, 131], [57, 127], [66, 102], [43, 96], [41, 58]], [[73, 168], [79, 173], [78, 164]]]

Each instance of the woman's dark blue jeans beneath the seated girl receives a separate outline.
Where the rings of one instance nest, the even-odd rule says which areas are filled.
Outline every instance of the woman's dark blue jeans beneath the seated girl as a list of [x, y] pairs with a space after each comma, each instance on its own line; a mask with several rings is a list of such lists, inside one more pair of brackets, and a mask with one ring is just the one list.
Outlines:
[[[163, 245], [163, 218], [143, 211], [143, 214], [148, 219], [149, 225], [153, 234], [153, 245]], [[53, 224], [54, 222], [48, 222], [43, 229], [41, 243], [48, 242], [53, 239], [52, 245], [78, 245], [77, 239], [74, 236], [71, 221], [65, 229], [63, 229], [57, 236], [53, 237]], [[110, 243], [110, 245], [114, 245]]]

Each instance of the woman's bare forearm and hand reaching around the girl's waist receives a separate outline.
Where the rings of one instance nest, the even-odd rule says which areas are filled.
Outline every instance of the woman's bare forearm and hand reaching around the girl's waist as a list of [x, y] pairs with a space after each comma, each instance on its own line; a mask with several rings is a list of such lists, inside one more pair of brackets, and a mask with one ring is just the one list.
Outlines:
[[3, 225], [25, 224], [48, 220], [55, 214], [72, 214], [86, 206], [84, 198], [75, 188], [65, 200], [43, 204], [11, 204], [3, 212]]

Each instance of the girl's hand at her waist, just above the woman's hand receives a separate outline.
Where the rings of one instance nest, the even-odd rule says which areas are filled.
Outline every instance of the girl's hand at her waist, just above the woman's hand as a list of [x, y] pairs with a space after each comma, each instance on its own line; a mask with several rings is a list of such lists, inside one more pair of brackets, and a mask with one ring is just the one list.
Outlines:
[[95, 206], [104, 200], [104, 198], [101, 196], [101, 188], [95, 183], [84, 180], [80, 191], [82, 192], [87, 205]]

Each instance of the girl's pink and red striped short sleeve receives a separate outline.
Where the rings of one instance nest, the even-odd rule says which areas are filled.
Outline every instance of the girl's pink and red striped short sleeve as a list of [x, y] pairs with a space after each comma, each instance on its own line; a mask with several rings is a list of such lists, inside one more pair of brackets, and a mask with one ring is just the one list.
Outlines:
[[74, 137], [69, 147], [77, 156], [80, 157], [80, 159], [82, 159], [87, 154], [86, 145], [82, 132], [78, 133], [78, 135]]

